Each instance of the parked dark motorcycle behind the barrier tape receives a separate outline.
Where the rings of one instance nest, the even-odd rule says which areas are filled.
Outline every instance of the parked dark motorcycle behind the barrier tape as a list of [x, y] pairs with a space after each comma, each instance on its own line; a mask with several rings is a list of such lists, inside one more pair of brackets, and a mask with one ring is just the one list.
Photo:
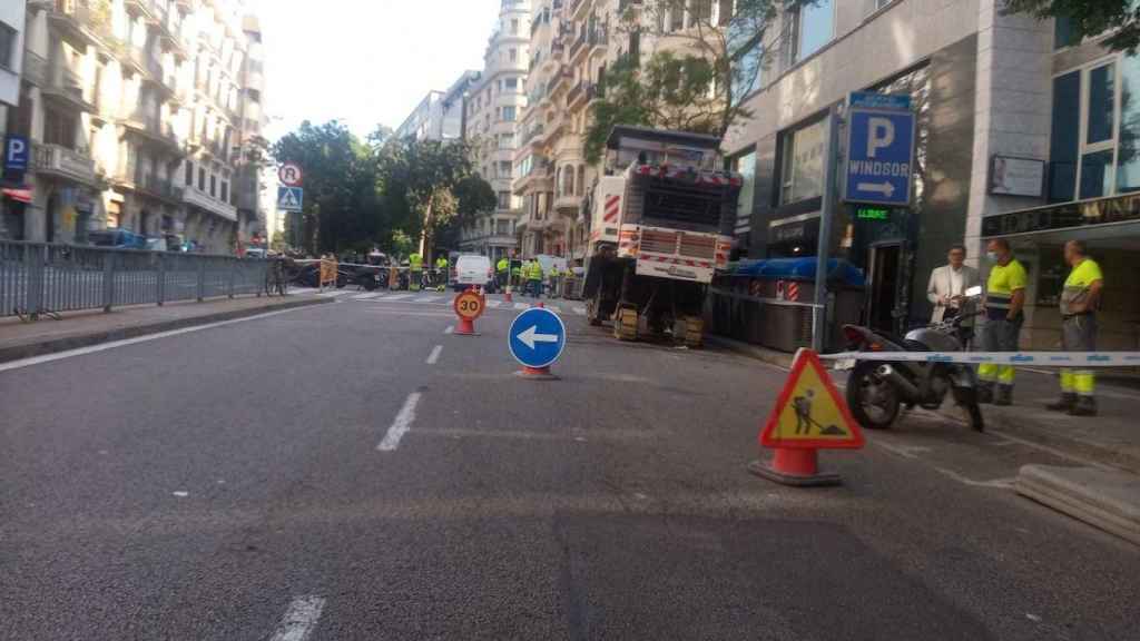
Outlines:
[[[850, 351], [964, 351], [970, 330], [963, 323], [980, 315], [967, 311], [976, 308], [982, 299], [980, 287], [966, 291], [961, 313], [948, 320], [912, 330], [898, 339], [869, 327], [845, 325]], [[901, 408], [914, 406], [938, 409], [952, 393], [955, 403], [970, 415], [970, 427], [985, 430], [985, 420], [978, 405], [978, 380], [974, 368], [959, 363], [885, 363], [849, 359], [837, 364], [838, 370], [849, 370], [847, 405], [861, 425], [868, 429], [889, 429]]]

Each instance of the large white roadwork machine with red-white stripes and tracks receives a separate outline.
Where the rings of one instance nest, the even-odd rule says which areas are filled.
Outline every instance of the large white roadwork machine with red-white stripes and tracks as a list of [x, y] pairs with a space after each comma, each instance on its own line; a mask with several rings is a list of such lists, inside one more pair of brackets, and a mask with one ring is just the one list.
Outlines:
[[716, 169], [712, 136], [614, 127], [588, 201], [583, 298], [618, 340], [703, 343], [706, 290], [732, 251], [743, 178]]

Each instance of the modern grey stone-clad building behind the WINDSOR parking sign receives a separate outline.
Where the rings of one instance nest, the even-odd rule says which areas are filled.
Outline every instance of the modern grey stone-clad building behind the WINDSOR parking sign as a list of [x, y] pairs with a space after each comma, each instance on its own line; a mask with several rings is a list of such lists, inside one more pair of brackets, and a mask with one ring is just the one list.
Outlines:
[[977, 265], [985, 240], [1005, 237], [1031, 273], [1025, 347], [1053, 348], [1061, 245], [1082, 238], [1106, 268], [1101, 342], [1134, 349], [1140, 283], [1126, 275], [1140, 250], [1140, 109], [1129, 98], [1140, 63], [1098, 38], [1073, 41], [1066, 21], [1000, 7], [821, 0], [784, 13], [747, 99], [756, 116], [725, 144], [749, 177], [742, 240], [754, 257], [814, 255], [829, 109], [852, 91], [906, 94], [918, 116], [912, 205], [837, 203], [828, 238], [869, 276], [868, 322], [901, 330], [929, 318], [927, 279], [950, 246], [964, 242]]

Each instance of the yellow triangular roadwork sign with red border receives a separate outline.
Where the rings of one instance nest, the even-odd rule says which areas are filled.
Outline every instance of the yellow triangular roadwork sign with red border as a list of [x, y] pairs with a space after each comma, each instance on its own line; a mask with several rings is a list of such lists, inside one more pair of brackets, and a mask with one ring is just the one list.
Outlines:
[[863, 447], [863, 431], [814, 351], [801, 349], [796, 355], [788, 382], [760, 432], [760, 445], [809, 449]]

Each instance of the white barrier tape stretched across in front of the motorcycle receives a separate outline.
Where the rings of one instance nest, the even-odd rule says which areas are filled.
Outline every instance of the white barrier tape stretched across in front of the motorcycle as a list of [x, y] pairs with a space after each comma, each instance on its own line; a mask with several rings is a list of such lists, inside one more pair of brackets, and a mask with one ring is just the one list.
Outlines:
[[1052, 367], [1140, 366], [1140, 351], [844, 351], [821, 354], [826, 360], [1037, 365]]

